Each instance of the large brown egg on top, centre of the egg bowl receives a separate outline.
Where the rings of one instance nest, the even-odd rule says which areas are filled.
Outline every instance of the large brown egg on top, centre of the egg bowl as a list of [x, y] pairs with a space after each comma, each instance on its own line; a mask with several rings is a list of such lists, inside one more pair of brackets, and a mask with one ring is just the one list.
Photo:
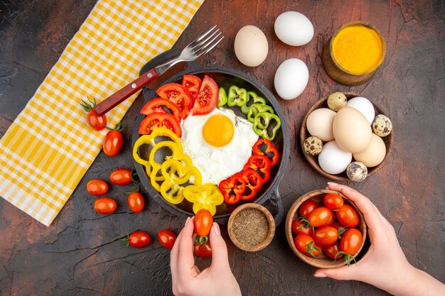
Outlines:
[[368, 147], [372, 129], [366, 117], [357, 109], [343, 107], [333, 119], [333, 136], [340, 148], [359, 153]]

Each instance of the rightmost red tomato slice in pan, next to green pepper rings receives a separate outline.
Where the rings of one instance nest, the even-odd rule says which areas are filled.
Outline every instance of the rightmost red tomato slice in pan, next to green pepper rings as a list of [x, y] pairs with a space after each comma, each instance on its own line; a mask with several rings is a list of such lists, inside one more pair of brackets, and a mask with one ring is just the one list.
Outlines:
[[219, 89], [215, 80], [204, 76], [203, 83], [199, 89], [198, 97], [193, 104], [193, 115], [209, 114], [218, 104]]

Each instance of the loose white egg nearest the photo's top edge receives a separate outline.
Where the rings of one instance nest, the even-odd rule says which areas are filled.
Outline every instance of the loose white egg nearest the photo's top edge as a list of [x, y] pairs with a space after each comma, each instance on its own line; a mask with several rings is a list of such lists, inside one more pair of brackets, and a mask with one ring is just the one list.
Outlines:
[[280, 14], [274, 24], [275, 34], [284, 43], [301, 46], [309, 43], [313, 37], [313, 26], [309, 18], [296, 11]]

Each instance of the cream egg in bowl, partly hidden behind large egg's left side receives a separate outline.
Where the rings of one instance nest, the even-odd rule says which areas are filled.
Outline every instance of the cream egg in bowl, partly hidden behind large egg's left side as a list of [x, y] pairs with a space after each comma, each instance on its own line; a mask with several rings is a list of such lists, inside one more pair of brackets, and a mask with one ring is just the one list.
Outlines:
[[311, 136], [316, 136], [324, 142], [332, 141], [334, 139], [332, 124], [335, 116], [336, 112], [331, 109], [315, 109], [306, 119], [306, 128]]

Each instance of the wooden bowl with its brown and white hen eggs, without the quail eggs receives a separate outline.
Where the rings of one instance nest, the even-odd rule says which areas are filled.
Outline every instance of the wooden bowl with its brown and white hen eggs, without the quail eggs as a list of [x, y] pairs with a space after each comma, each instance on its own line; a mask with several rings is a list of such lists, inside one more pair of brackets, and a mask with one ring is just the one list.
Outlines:
[[[323, 97], [313, 104], [301, 123], [300, 144], [306, 160], [321, 175], [331, 180], [353, 182], [346, 172], [349, 165], [352, 170], [354, 166], [359, 168], [359, 165], [365, 164], [366, 178], [382, 168], [392, 150], [393, 131], [385, 137], [377, 136], [372, 132], [372, 121], [377, 114], [385, 113], [374, 103], [368, 106], [368, 99], [354, 99], [360, 98], [360, 94], [343, 94], [348, 99], [348, 104], [338, 111], [328, 108], [328, 97]], [[340, 120], [334, 121], [337, 115], [340, 115]], [[319, 126], [329, 124], [331, 126], [326, 127], [324, 131], [317, 130]], [[305, 152], [304, 142], [314, 134], [321, 139], [323, 149], [321, 153], [311, 155]]]

